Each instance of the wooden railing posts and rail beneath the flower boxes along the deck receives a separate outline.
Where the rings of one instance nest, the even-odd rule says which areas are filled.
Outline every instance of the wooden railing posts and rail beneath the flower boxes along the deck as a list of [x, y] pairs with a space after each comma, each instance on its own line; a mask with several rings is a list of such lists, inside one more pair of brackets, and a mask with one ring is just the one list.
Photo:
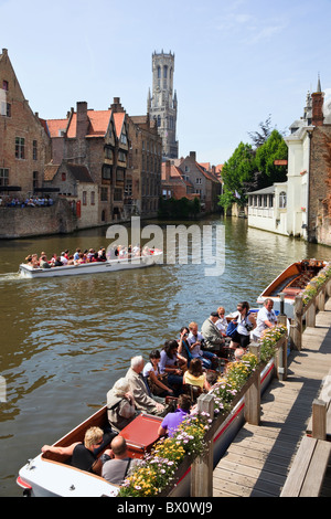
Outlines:
[[[278, 342], [275, 345], [277, 353], [275, 356], [275, 370], [274, 373], [280, 380], [285, 380], [287, 375], [287, 335], [284, 335]], [[259, 358], [260, 345], [253, 342], [249, 345], [249, 351], [255, 353]], [[211, 393], [202, 394], [197, 399], [197, 409], [200, 412], [207, 413], [212, 420], [210, 430], [205, 435], [206, 448], [203, 454], [192, 459], [191, 457], [185, 458], [177, 470], [174, 479], [171, 485], [166, 488], [160, 497], [171, 497], [174, 486], [181, 479], [181, 477], [191, 467], [191, 483], [190, 483], [190, 495], [191, 497], [212, 497], [213, 495], [213, 451], [214, 451], [214, 437], [217, 431], [222, 427], [222, 424], [227, 420], [234, 407], [244, 398], [245, 407], [244, 416], [245, 421], [249, 424], [258, 425], [260, 422], [260, 375], [267, 362], [259, 362], [255, 371], [250, 374], [244, 386], [236, 394], [232, 401], [231, 410], [221, 416], [215, 417], [214, 415], [214, 398]]]

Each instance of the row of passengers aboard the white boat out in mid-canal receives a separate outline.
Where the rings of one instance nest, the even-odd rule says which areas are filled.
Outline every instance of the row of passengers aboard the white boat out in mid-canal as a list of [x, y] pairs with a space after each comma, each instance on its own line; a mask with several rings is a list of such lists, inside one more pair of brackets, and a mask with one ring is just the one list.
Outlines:
[[51, 258], [47, 258], [44, 251], [41, 252], [40, 255], [35, 253], [29, 254], [29, 256], [25, 257], [25, 263], [32, 268], [52, 268], [66, 265], [107, 262], [116, 258], [125, 260], [129, 257], [148, 256], [153, 253], [153, 248], [149, 248], [148, 246], [141, 247], [140, 245], [129, 245], [128, 247], [117, 245], [108, 247], [107, 250], [100, 246], [98, 250], [85, 248], [84, 251], [77, 247], [74, 254], [66, 248], [61, 254], [53, 254]]

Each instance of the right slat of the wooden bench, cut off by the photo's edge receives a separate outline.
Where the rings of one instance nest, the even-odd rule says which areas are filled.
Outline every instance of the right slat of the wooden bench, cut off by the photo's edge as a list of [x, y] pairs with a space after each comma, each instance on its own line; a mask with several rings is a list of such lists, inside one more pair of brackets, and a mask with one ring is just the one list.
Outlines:
[[300, 497], [318, 497], [320, 495], [330, 452], [331, 443], [318, 439], [309, 470], [300, 491]]

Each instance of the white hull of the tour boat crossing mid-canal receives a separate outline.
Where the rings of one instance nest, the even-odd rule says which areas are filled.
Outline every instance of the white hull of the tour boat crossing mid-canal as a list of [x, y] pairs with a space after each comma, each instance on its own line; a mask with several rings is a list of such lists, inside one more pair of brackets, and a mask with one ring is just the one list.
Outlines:
[[34, 268], [26, 263], [22, 263], [20, 265], [20, 275], [22, 277], [34, 278], [110, 273], [153, 266], [156, 264], [161, 264], [163, 261], [162, 258], [163, 252], [156, 250], [149, 255], [107, 260], [106, 262], [82, 263], [79, 265], [63, 265], [51, 268]]

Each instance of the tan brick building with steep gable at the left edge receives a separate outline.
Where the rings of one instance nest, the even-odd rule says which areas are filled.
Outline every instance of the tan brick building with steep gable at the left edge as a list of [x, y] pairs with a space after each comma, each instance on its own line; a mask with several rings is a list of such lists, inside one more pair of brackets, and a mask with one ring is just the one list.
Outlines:
[[43, 182], [51, 159], [44, 121], [33, 114], [7, 49], [0, 54], [0, 190], [25, 199]]

